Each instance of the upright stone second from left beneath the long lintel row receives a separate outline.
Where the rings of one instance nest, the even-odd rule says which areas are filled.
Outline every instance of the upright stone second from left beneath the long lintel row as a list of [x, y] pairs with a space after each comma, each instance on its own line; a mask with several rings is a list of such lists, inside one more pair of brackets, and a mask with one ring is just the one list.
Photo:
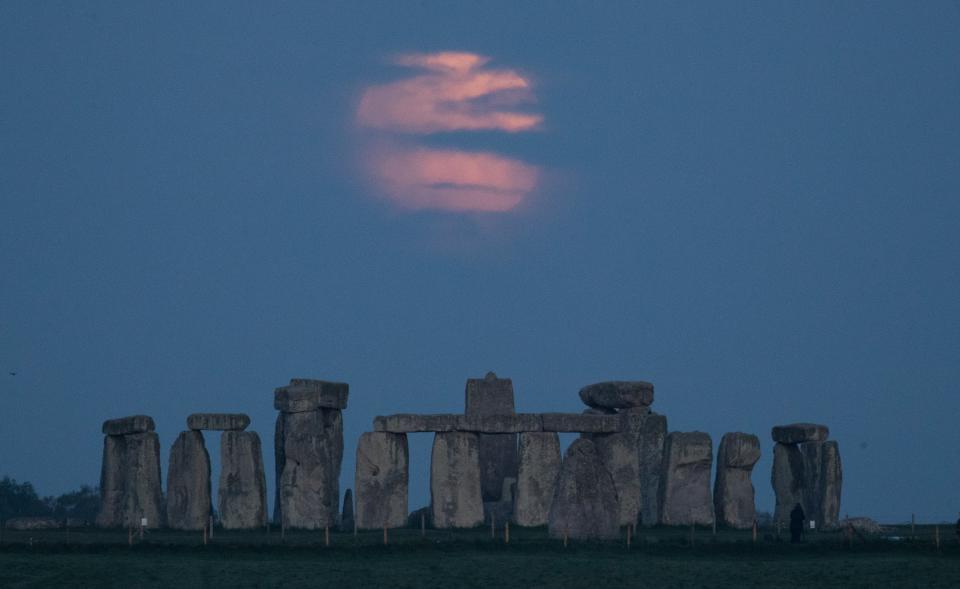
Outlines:
[[480, 436], [439, 432], [430, 463], [430, 506], [436, 528], [472, 528], [483, 523]]

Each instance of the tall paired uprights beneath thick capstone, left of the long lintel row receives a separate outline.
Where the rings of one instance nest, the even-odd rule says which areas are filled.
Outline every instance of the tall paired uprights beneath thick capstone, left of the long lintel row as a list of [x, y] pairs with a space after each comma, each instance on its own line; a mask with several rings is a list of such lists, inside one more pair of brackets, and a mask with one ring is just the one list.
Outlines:
[[277, 416], [278, 519], [288, 528], [335, 526], [339, 515], [343, 416], [314, 409]]

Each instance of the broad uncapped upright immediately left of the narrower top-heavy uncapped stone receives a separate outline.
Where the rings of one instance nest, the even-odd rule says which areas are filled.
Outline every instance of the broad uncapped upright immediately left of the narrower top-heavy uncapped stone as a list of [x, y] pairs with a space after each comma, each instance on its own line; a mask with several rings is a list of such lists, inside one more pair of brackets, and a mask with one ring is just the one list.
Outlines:
[[711, 525], [710, 468], [713, 442], [703, 432], [670, 432], [663, 449], [660, 522]]

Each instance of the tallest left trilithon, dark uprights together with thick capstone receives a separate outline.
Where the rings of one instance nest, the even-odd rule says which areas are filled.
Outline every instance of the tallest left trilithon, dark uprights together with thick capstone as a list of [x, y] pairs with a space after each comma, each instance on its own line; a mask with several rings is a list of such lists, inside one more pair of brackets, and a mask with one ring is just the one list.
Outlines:
[[334, 526], [339, 518], [346, 383], [293, 379], [274, 391], [276, 517], [290, 528]]

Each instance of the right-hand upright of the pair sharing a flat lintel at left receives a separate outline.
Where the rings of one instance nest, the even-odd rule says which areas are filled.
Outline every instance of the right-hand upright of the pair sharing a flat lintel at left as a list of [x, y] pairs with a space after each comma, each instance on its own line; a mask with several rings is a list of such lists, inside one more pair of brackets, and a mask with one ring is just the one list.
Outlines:
[[225, 431], [220, 435], [220, 524], [228, 530], [267, 525], [267, 477], [257, 432]]

